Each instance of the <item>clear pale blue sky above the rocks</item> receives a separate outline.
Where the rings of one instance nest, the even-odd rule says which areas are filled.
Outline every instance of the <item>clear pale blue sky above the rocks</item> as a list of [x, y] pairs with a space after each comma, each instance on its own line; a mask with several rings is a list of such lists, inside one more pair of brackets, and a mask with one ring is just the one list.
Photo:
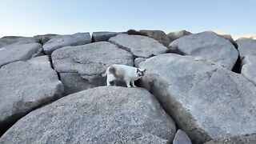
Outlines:
[[256, 0], [0, 0], [0, 38], [94, 31], [256, 34]]

